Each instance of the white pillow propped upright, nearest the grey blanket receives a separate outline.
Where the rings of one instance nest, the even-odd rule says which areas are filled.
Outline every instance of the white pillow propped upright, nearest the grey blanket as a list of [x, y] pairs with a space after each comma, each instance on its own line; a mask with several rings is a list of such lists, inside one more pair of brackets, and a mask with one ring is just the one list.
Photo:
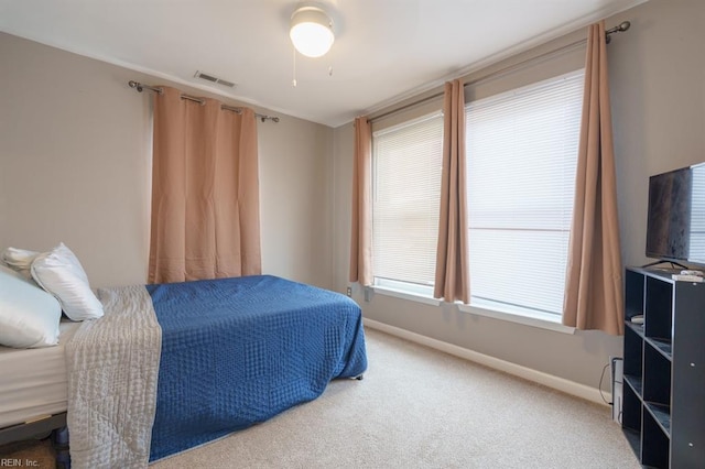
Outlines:
[[58, 298], [69, 319], [97, 319], [102, 316], [102, 304], [90, 290], [84, 268], [63, 242], [39, 254], [32, 262], [31, 271], [34, 281]]

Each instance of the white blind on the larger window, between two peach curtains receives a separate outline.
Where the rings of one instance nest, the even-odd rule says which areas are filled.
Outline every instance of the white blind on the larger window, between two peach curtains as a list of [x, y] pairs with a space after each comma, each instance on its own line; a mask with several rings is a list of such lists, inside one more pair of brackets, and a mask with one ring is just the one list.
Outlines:
[[562, 315], [583, 77], [466, 106], [474, 304]]

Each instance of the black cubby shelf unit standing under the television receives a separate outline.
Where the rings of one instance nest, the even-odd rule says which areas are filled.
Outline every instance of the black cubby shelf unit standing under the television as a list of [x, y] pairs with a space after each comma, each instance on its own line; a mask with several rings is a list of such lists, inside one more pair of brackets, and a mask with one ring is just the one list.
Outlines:
[[[621, 425], [639, 461], [705, 467], [705, 283], [625, 273]], [[643, 325], [631, 321], [643, 315]]]

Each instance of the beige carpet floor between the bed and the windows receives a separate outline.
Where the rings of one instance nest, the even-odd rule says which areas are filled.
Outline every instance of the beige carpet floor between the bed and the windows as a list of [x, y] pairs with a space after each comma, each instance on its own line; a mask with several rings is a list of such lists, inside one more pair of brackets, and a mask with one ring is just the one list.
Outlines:
[[365, 380], [151, 468], [640, 468], [607, 406], [367, 338]]

